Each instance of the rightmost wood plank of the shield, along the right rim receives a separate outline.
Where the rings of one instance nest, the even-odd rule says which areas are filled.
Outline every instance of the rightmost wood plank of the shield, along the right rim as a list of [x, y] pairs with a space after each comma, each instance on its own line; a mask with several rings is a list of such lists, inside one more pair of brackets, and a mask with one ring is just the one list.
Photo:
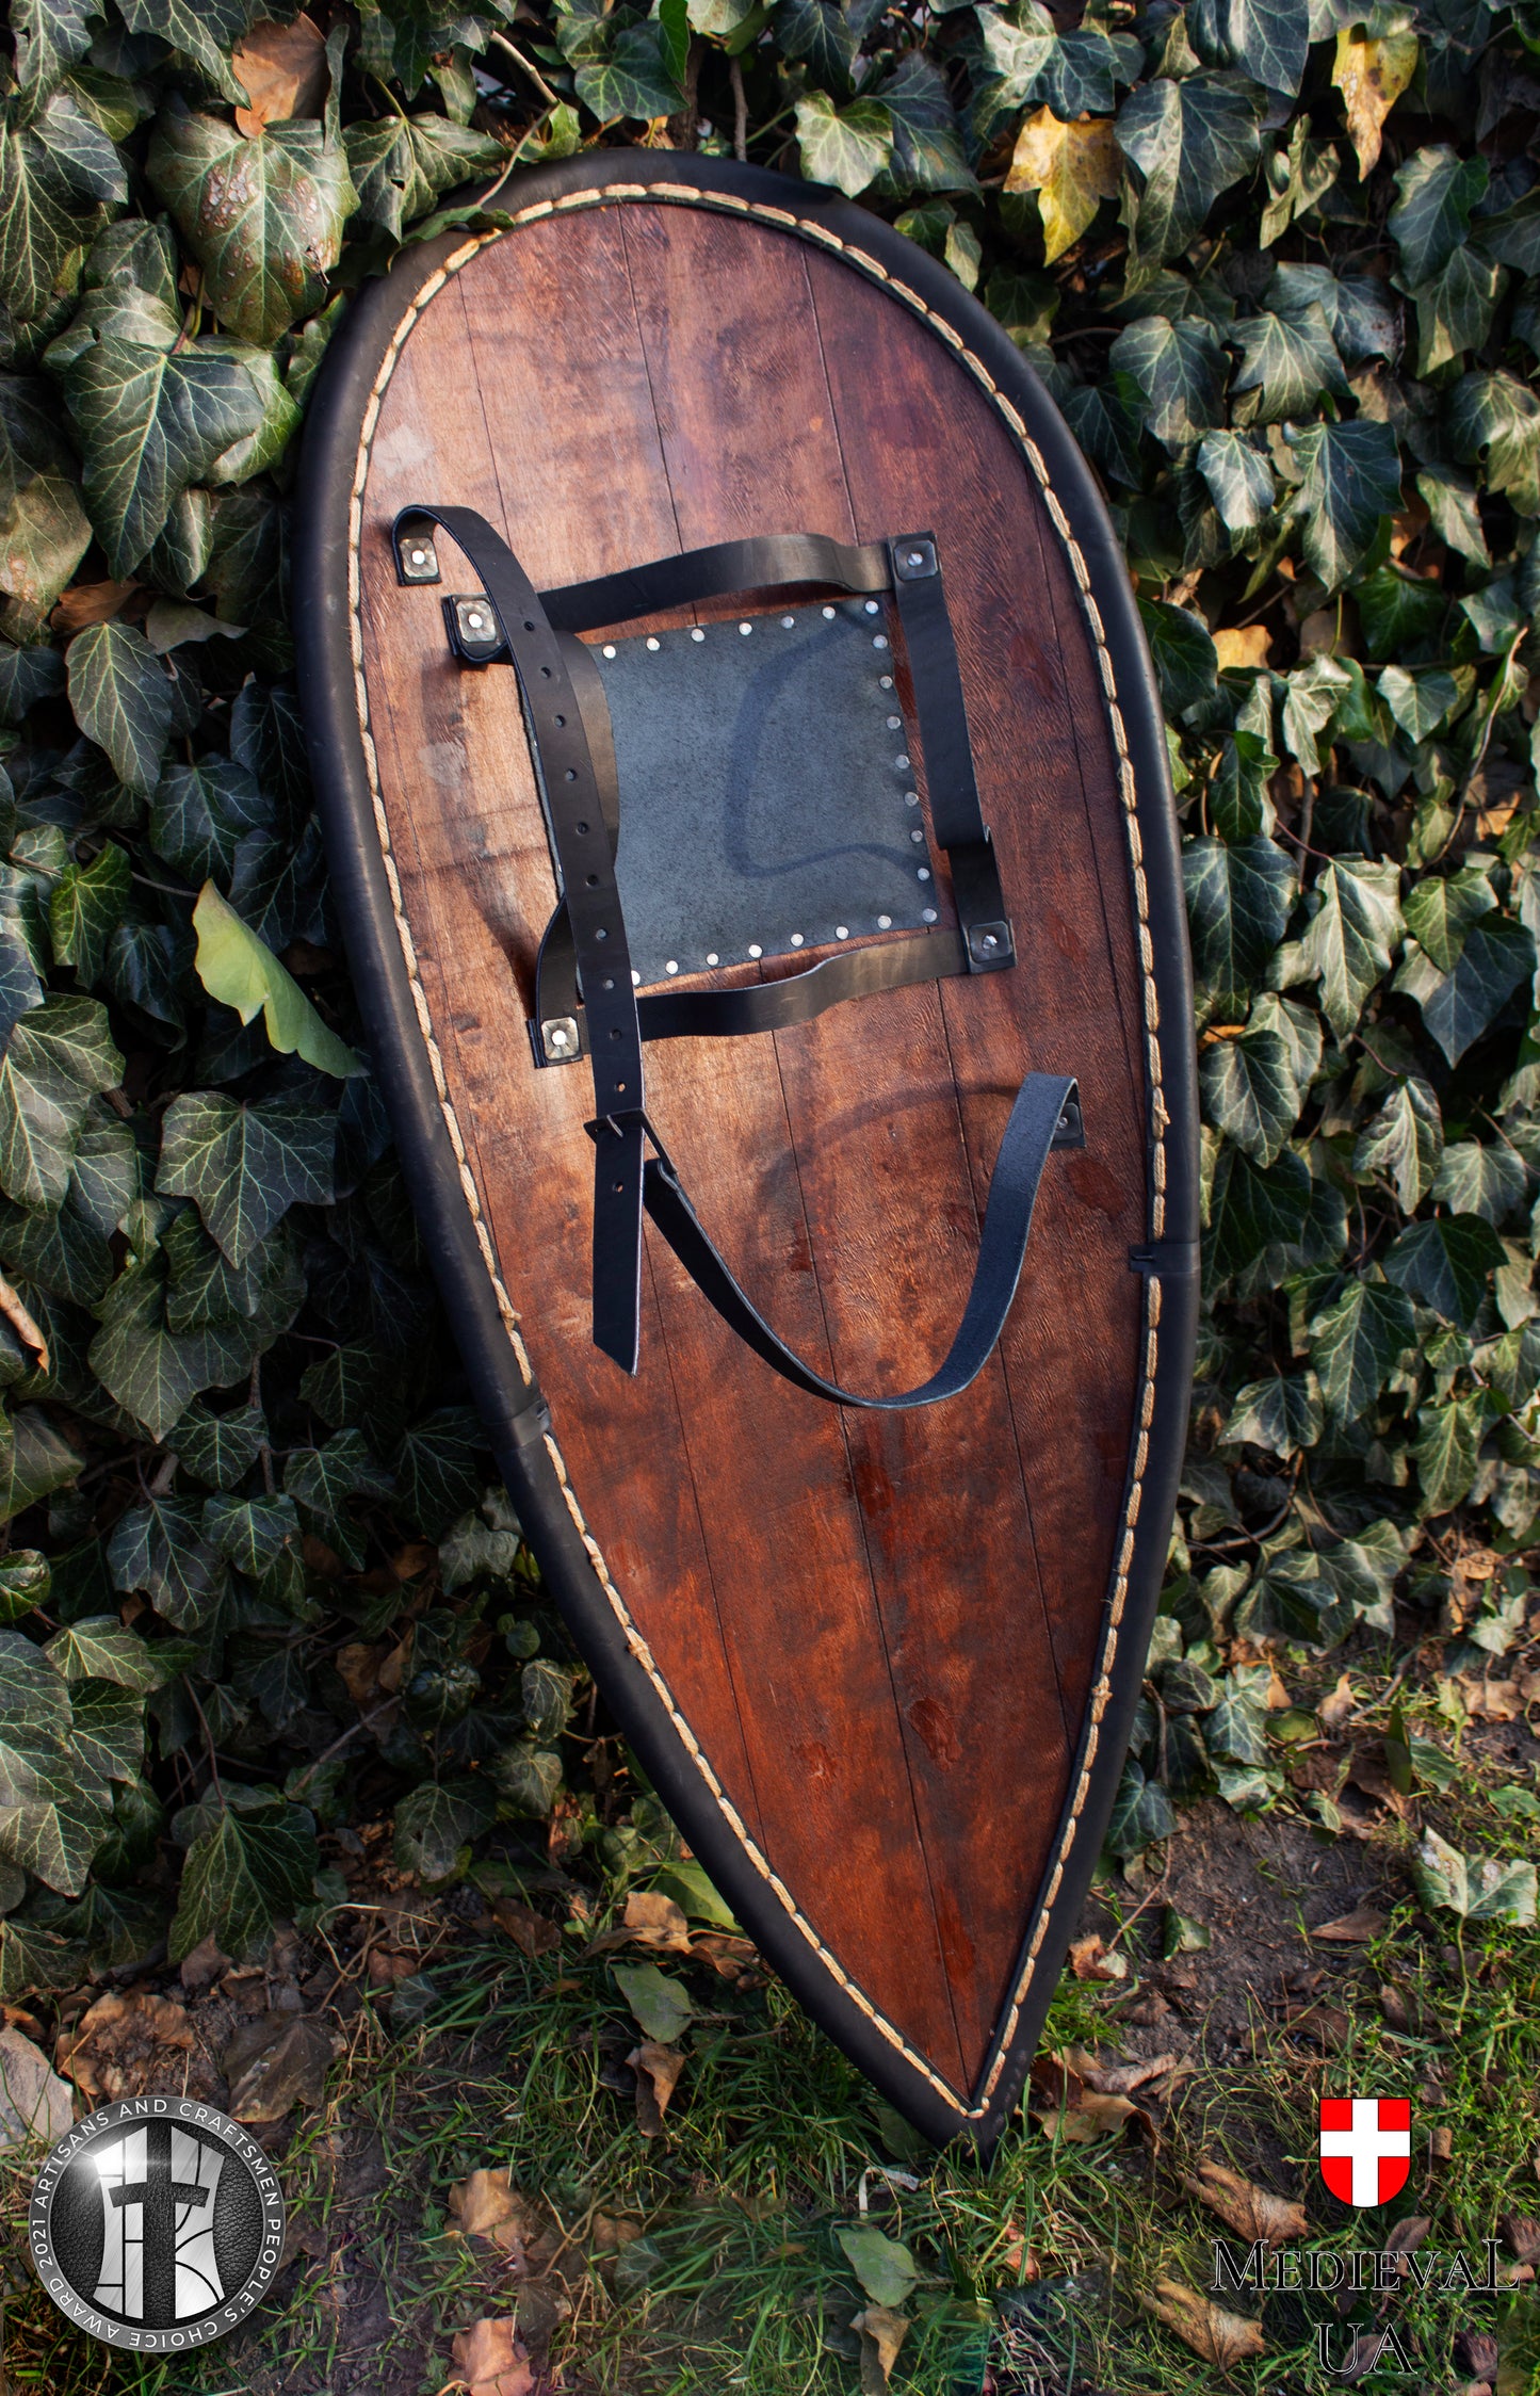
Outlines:
[[1140, 1320], [1128, 1248], [1145, 1224], [1138, 944], [1107, 704], [1063, 549], [984, 393], [958, 364], [939, 374], [924, 328], [848, 268], [814, 259], [812, 285], [836, 417], [860, 426], [845, 443], [860, 534], [901, 503], [941, 544], [980, 795], [1011, 894], [1015, 973], [941, 990], [975, 1188], [987, 1188], [1020, 1073], [1080, 1078], [1087, 1145], [1044, 1174], [1001, 1342], [1035, 1541], [1054, 1560], [1054, 1658], [1078, 1718], [1128, 1471]]

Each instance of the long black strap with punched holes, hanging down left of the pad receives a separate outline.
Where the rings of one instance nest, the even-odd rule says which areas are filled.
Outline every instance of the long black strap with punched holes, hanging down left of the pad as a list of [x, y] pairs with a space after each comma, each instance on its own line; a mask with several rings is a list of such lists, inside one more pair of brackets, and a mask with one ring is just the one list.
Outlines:
[[[620, 819], [616, 755], [604, 743], [589, 743], [568, 637], [553, 630], [529, 575], [484, 515], [474, 508], [405, 508], [395, 520], [398, 575], [410, 580], [400, 553], [402, 527], [422, 520], [443, 525], [477, 568], [520, 678], [572, 925], [601, 1119], [594, 1152], [594, 1344], [623, 1373], [635, 1373], [642, 1320], [644, 1090], [642, 1030], [611, 836], [611, 824]], [[596, 676], [596, 668], [589, 671]]]

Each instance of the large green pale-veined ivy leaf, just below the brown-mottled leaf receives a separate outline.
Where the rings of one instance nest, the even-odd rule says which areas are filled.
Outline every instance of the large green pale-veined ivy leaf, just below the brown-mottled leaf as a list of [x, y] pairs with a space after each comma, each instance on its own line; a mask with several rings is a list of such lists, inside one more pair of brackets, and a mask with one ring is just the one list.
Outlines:
[[240, 355], [101, 333], [55, 364], [84, 455], [81, 491], [113, 575], [129, 575], [187, 484], [256, 434], [263, 398]]

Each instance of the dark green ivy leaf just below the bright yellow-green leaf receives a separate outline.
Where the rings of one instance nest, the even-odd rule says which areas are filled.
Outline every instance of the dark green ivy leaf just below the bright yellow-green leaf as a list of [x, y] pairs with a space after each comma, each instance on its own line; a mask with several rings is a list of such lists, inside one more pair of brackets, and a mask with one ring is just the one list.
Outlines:
[[165, 1112], [156, 1188], [194, 1198], [218, 1246], [240, 1265], [290, 1205], [328, 1203], [333, 1150], [328, 1114], [196, 1090]]

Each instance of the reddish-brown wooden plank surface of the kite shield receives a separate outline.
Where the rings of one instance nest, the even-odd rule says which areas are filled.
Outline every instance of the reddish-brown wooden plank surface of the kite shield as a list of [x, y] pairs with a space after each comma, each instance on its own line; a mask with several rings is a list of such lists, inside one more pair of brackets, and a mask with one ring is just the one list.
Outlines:
[[[589, 1344], [587, 1071], [522, 1016], [553, 901], [508, 673], [400, 592], [412, 498], [536, 582], [702, 541], [932, 525], [1013, 908], [1011, 975], [774, 1040], [649, 1049], [649, 1109], [776, 1327], [920, 1380], [956, 1325], [1020, 1076], [1071, 1071], [1023, 1296], [965, 1397], [836, 1414], [747, 1356], [649, 1236], [642, 1373]], [[1138, 949], [1111, 745], [1042, 501], [984, 393], [807, 244], [630, 204], [484, 247], [426, 307], [364, 496], [383, 805], [455, 1119], [584, 1519], [730, 1802], [872, 2003], [984, 2058], [1068, 1785], [1128, 1469], [1142, 1229]], [[786, 970], [786, 968], [781, 968]]]

